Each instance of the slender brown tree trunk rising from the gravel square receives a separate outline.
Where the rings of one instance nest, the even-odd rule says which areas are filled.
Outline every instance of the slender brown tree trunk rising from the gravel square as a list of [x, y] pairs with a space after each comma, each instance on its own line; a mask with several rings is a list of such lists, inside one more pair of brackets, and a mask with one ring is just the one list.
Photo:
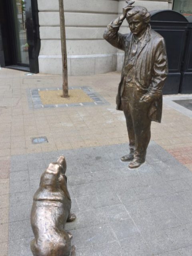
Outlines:
[[68, 98], [68, 73], [67, 73], [67, 50], [66, 50], [66, 34], [65, 34], [65, 17], [63, 0], [59, 0], [59, 16], [61, 31], [61, 52], [62, 52], [62, 74], [63, 74], [63, 94], [64, 98]]

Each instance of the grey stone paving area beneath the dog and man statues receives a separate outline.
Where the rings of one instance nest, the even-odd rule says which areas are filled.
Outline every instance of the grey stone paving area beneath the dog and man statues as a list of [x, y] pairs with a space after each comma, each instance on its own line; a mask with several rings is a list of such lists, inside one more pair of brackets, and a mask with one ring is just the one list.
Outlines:
[[32, 256], [32, 197], [64, 155], [77, 256], [191, 256], [192, 173], [151, 141], [146, 163], [128, 168], [128, 144], [11, 157], [9, 256]]

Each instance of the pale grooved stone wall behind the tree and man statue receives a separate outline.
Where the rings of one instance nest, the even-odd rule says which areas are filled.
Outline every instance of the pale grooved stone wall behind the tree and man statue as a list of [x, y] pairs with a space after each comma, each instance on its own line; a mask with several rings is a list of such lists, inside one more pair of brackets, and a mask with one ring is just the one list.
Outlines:
[[[171, 0], [169, 0], [170, 2]], [[172, 8], [168, 0], [136, 0], [148, 10]], [[123, 53], [102, 37], [108, 23], [122, 12], [124, 0], [64, 0], [68, 74], [102, 74], [122, 68]], [[58, 0], [38, 0], [41, 49], [40, 73], [61, 74]], [[124, 22], [121, 32], [128, 31]]]

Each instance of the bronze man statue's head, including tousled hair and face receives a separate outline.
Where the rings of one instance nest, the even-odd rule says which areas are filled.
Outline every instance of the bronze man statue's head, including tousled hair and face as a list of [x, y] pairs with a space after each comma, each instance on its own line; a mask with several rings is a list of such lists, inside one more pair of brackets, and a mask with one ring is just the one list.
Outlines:
[[140, 37], [150, 22], [150, 13], [145, 7], [135, 6], [127, 12], [126, 19], [134, 36]]

